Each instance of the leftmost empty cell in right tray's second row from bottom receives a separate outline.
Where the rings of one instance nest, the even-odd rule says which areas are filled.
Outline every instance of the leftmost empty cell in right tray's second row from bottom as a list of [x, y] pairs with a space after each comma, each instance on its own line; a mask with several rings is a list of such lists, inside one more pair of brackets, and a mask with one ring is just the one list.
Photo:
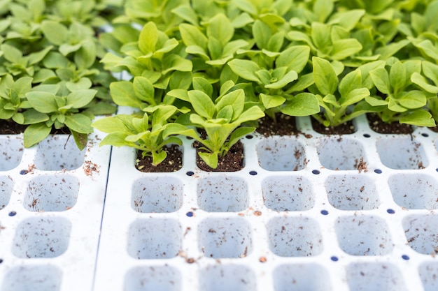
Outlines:
[[175, 219], [139, 219], [129, 227], [127, 251], [139, 260], [174, 258], [181, 249], [181, 232]]

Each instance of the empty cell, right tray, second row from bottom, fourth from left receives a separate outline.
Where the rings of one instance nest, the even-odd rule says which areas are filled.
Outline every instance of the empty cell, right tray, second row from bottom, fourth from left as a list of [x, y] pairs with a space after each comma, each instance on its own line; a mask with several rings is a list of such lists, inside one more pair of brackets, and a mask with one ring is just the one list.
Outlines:
[[349, 255], [386, 255], [393, 243], [385, 221], [374, 216], [341, 216], [335, 222], [339, 246]]

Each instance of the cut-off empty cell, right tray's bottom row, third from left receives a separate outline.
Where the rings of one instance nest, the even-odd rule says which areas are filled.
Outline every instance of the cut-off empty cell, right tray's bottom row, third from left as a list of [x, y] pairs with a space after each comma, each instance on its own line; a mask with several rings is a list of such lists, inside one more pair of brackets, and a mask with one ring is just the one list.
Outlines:
[[332, 291], [327, 270], [318, 264], [282, 264], [274, 269], [275, 291]]

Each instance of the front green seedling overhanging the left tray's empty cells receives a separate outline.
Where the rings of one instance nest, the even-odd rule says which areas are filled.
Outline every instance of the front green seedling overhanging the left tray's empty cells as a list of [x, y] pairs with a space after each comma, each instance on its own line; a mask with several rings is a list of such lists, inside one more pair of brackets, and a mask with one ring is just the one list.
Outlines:
[[[87, 135], [92, 133], [92, 114], [81, 111], [97, 94], [93, 89], [70, 91], [59, 84], [39, 85], [27, 92], [26, 97], [34, 111], [24, 114], [24, 147], [41, 142], [52, 128], [69, 128], [79, 149], [87, 145]], [[41, 121], [41, 114], [45, 121]]]

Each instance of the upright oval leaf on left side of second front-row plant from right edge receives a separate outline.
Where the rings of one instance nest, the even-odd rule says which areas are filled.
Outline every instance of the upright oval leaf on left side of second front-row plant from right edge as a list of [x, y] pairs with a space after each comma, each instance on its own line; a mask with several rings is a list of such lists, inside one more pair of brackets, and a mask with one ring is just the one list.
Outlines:
[[334, 94], [338, 87], [338, 78], [329, 61], [313, 57], [313, 78], [321, 94]]

